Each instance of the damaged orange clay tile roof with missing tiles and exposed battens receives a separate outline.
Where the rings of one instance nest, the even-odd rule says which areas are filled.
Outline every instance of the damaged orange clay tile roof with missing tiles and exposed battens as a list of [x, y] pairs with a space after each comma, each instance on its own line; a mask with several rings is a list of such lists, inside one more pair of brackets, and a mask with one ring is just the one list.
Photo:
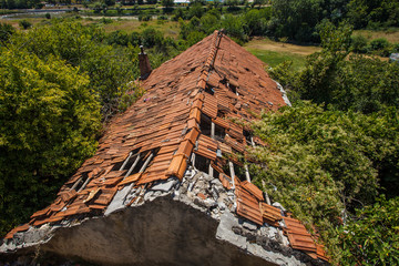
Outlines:
[[323, 246], [299, 221], [265, 202], [246, 165], [235, 156], [245, 156], [247, 145], [263, 142], [232, 120], [249, 122], [262, 110], [287, 104], [262, 61], [216, 31], [152, 71], [142, 86], [145, 95], [113, 120], [96, 154], [61, 187], [53, 204], [6, 239], [30, 227], [134, 205], [141, 198], [130, 196], [132, 191], [170, 177], [182, 181], [191, 164], [235, 191], [239, 216], [283, 228], [293, 248], [326, 259]]

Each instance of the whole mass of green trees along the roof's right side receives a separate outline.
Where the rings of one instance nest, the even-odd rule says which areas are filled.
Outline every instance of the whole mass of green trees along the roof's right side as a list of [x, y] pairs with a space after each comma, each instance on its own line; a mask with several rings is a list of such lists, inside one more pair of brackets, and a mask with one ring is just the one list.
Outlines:
[[335, 264], [396, 264], [399, 65], [348, 57], [347, 24], [325, 22], [319, 34], [323, 50], [303, 70], [269, 71], [294, 106], [255, 123], [268, 143], [253, 152], [263, 162], [256, 181], [316, 225]]

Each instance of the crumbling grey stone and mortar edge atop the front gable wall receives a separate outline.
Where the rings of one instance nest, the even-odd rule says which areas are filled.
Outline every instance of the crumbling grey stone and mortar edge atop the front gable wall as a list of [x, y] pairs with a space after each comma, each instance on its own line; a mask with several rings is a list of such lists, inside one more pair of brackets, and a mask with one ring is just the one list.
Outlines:
[[[104, 216], [117, 215], [129, 207], [140, 207], [156, 198], [170, 196], [173, 201], [184, 203], [201, 211], [218, 223], [216, 239], [237, 246], [241, 250], [278, 265], [327, 265], [324, 260], [314, 259], [307, 254], [289, 247], [289, 242], [278, 227], [266, 223], [259, 226], [235, 214], [236, 195], [234, 188], [226, 190], [218, 178], [190, 166], [182, 182], [177, 177], [154, 182], [151, 187], [133, 188], [126, 186], [119, 191]], [[16, 233], [12, 239], [4, 241], [0, 246], [1, 253], [16, 253], [19, 249], [33, 250], [48, 243], [59, 228], [74, 227], [89, 219], [101, 216], [75, 216], [62, 221], [60, 224], [44, 224], [30, 227], [27, 232]]]

